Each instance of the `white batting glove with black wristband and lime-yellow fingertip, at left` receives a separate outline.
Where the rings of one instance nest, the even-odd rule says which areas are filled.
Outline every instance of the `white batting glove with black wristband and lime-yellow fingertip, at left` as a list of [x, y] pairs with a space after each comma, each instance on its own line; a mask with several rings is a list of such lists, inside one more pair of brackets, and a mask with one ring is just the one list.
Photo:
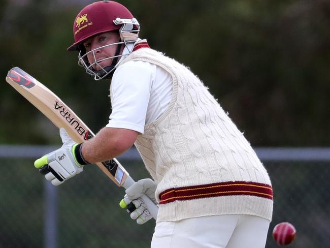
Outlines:
[[59, 130], [63, 145], [35, 161], [35, 167], [55, 186], [79, 174], [88, 164], [81, 155], [81, 144], [77, 144], [65, 129]]

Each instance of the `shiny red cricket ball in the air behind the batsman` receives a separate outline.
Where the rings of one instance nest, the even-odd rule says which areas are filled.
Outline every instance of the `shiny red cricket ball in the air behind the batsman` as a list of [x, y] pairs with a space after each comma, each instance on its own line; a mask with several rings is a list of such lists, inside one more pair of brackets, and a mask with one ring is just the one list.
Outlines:
[[286, 245], [295, 238], [295, 228], [291, 223], [282, 222], [273, 229], [273, 237], [279, 245]]

